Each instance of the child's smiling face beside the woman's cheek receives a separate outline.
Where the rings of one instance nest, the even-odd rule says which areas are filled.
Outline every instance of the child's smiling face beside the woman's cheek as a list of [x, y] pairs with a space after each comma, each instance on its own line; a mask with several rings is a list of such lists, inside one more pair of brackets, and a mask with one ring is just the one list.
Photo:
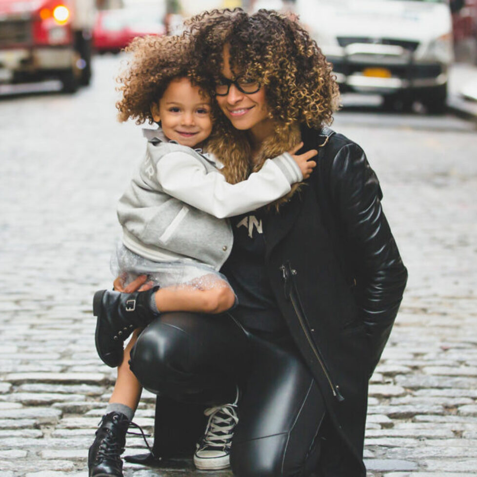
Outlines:
[[169, 83], [151, 113], [167, 139], [195, 147], [212, 132], [210, 110], [210, 99], [200, 94], [199, 86], [179, 78]]

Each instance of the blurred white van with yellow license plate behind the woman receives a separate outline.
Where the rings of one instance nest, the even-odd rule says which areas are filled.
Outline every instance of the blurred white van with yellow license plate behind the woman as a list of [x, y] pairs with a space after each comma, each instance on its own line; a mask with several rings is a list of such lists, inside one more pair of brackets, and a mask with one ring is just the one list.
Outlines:
[[297, 0], [296, 10], [333, 63], [341, 92], [444, 110], [454, 59], [447, 0]]

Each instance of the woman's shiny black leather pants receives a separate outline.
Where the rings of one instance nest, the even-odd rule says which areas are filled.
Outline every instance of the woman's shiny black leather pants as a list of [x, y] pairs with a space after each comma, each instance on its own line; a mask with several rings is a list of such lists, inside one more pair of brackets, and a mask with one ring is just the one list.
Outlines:
[[146, 389], [185, 402], [232, 402], [239, 383], [236, 476], [309, 476], [316, 469], [325, 407], [289, 340], [249, 333], [226, 314], [168, 313], [140, 335], [131, 369]]

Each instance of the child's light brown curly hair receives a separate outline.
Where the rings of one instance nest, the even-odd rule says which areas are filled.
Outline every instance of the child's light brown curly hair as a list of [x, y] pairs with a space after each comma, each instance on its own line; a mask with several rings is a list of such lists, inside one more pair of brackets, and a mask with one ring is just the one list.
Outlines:
[[[187, 35], [136, 38], [126, 48], [132, 54], [116, 81], [121, 99], [116, 103], [119, 121], [154, 122], [151, 105], [157, 103], [174, 78], [191, 76], [191, 42]], [[202, 91], [205, 89], [201, 87]]]

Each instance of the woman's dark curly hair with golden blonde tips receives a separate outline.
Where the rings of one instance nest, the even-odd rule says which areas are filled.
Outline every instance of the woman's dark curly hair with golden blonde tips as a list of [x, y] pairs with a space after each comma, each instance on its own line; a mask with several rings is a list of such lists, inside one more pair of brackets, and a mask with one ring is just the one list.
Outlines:
[[223, 45], [229, 44], [234, 77], [246, 73], [266, 86], [274, 119], [312, 128], [331, 124], [338, 103], [332, 65], [297, 20], [272, 10], [248, 15], [237, 8], [204, 12], [188, 26], [204, 80], [218, 77]]

